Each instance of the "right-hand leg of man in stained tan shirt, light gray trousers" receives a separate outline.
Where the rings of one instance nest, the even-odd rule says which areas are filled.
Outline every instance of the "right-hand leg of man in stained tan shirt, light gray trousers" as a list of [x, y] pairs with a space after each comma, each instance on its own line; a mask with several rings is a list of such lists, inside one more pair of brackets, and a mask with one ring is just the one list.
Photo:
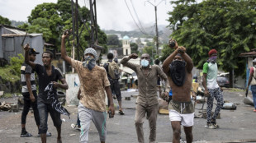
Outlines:
[[100, 136], [100, 141], [102, 143], [106, 141], [106, 137], [107, 137], [106, 121], [107, 121], [106, 112], [98, 112], [98, 111], [92, 110], [92, 122], [97, 128], [97, 132]]

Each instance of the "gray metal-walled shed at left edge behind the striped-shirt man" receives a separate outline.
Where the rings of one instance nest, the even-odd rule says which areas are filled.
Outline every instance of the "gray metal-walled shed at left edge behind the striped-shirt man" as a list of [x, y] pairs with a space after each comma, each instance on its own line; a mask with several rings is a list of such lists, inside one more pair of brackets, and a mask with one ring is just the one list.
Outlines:
[[[21, 30], [9, 25], [0, 25], [0, 62], [10, 62], [11, 57], [17, 57], [18, 53], [24, 56], [24, 44], [30, 44], [31, 48], [35, 48], [36, 52], [43, 53], [44, 40], [42, 34], [27, 34], [25, 30]], [[42, 64], [42, 57], [37, 56], [37, 63]], [[3, 63], [0, 63], [3, 65]]]

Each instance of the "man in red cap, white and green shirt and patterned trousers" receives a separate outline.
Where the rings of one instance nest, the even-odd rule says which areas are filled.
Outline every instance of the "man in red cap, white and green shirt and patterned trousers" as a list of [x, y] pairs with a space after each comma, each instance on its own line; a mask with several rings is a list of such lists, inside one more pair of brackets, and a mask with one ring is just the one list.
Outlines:
[[[222, 108], [223, 102], [223, 95], [222, 91], [220, 90], [220, 86], [217, 83], [217, 74], [218, 74], [218, 67], [216, 63], [217, 59], [217, 51], [216, 49], [211, 49], [208, 53], [209, 59], [203, 65], [203, 78], [202, 78], [202, 85], [205, 88], [205, 95], [207, 96], [207, 111], [206, 111], [206, 128], [216, 129], [219, 126], [216, 123], [216, 117], [220, 113], [220, 109]], [[215, 113], [211, 117], [211, 109], [213, 107], [213, 100], [214, 98], [217, 100], [217, 107]]]

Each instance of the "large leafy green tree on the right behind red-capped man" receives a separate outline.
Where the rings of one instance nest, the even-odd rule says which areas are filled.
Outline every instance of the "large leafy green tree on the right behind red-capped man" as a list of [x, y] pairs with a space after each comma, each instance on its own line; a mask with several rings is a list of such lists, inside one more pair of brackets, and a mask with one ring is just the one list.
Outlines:
[[173, 12], [168, 12], [172, 37], [187, 48], [195, 66], [202, 68], [208, 51], [216, 48], [218, 65], [230, 71], [230, 79], [233, 69], [237, 76], [245, 73], [245, 60], [239, 58], [239, 53], [256, 46], [256, 1], [208, 0], [197, 4], [194, 0], [178, 0], [171, 3], [176, 4]]

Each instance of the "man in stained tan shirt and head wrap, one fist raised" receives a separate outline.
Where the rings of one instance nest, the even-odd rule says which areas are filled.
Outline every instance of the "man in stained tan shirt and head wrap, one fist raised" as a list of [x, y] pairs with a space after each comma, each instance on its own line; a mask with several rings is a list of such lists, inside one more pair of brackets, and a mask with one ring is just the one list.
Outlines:
[[107, 79], [107, 72], [104, 67], [96, 65], [97, 52], [93, 48], [86, 48], [84, 51], [84, 61], [80, 62], [73, 58], [69, 58], [65, 49], [65, 39], [69, 35], [62, 35], [61, 40], [61, 57], [71, 64], [78, 72], [80, 85], [80, 102], [78, 105], [78, 116], [81, 123], [80, 142], [88, 142], [88, 132], [90, 123], [93, 122], [100, 136], [100, 141], [106, 141], [106, 104], [105, 92], [110, 101], [109, 110], [114, 116], [115, 108], [111, 95], [110, 82]]

